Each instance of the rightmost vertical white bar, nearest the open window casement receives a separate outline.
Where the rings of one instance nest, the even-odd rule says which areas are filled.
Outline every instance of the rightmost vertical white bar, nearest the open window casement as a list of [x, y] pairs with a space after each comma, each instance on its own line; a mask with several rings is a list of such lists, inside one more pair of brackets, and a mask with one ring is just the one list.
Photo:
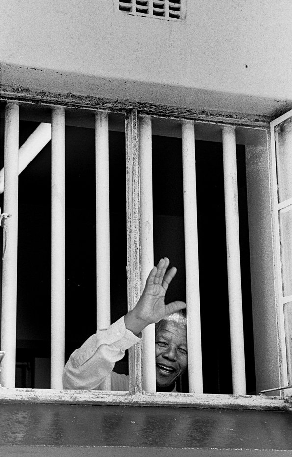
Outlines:
[[246, 394], [235, 127], [222, 130], [229, 319], [234, 395]]

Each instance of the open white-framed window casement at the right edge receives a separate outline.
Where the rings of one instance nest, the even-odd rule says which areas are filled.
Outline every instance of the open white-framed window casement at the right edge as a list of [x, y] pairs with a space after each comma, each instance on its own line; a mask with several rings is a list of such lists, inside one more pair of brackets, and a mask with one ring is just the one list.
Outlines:
[[[280, 376], [292, 385], [292, 111], [271, 122]], [[292, 388], [282, 391], [286, 397]]]

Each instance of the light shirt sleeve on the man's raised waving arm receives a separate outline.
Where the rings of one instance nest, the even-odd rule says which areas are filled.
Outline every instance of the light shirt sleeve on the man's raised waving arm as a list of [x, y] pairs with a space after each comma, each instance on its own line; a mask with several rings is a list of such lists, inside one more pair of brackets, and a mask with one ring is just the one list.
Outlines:
[[97, 390], [125, 350], [140, 341], [125, 327], [124, 317], [98, 330], [70, 356], [63, 372], [64, 389]]

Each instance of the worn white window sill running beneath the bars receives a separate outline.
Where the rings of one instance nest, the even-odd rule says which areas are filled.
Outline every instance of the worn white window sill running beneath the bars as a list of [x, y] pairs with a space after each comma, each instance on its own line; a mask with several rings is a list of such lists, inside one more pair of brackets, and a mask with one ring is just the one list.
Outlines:
[[136, 406], [180, 406], [190, 408], [258, 409], [292, 411], [286, 399], [260, 395], [188, 393], [136, 393], [87, 390], [0, 388], [0, 403], [121, 404]]

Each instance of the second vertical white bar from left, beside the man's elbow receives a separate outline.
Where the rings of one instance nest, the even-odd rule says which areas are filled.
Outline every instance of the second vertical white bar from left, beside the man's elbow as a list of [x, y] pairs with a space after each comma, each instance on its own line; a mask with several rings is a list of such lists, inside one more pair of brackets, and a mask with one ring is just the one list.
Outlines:
[[51, 389], [62, 389], [65, 359], [65, 108], [52, 109]]

